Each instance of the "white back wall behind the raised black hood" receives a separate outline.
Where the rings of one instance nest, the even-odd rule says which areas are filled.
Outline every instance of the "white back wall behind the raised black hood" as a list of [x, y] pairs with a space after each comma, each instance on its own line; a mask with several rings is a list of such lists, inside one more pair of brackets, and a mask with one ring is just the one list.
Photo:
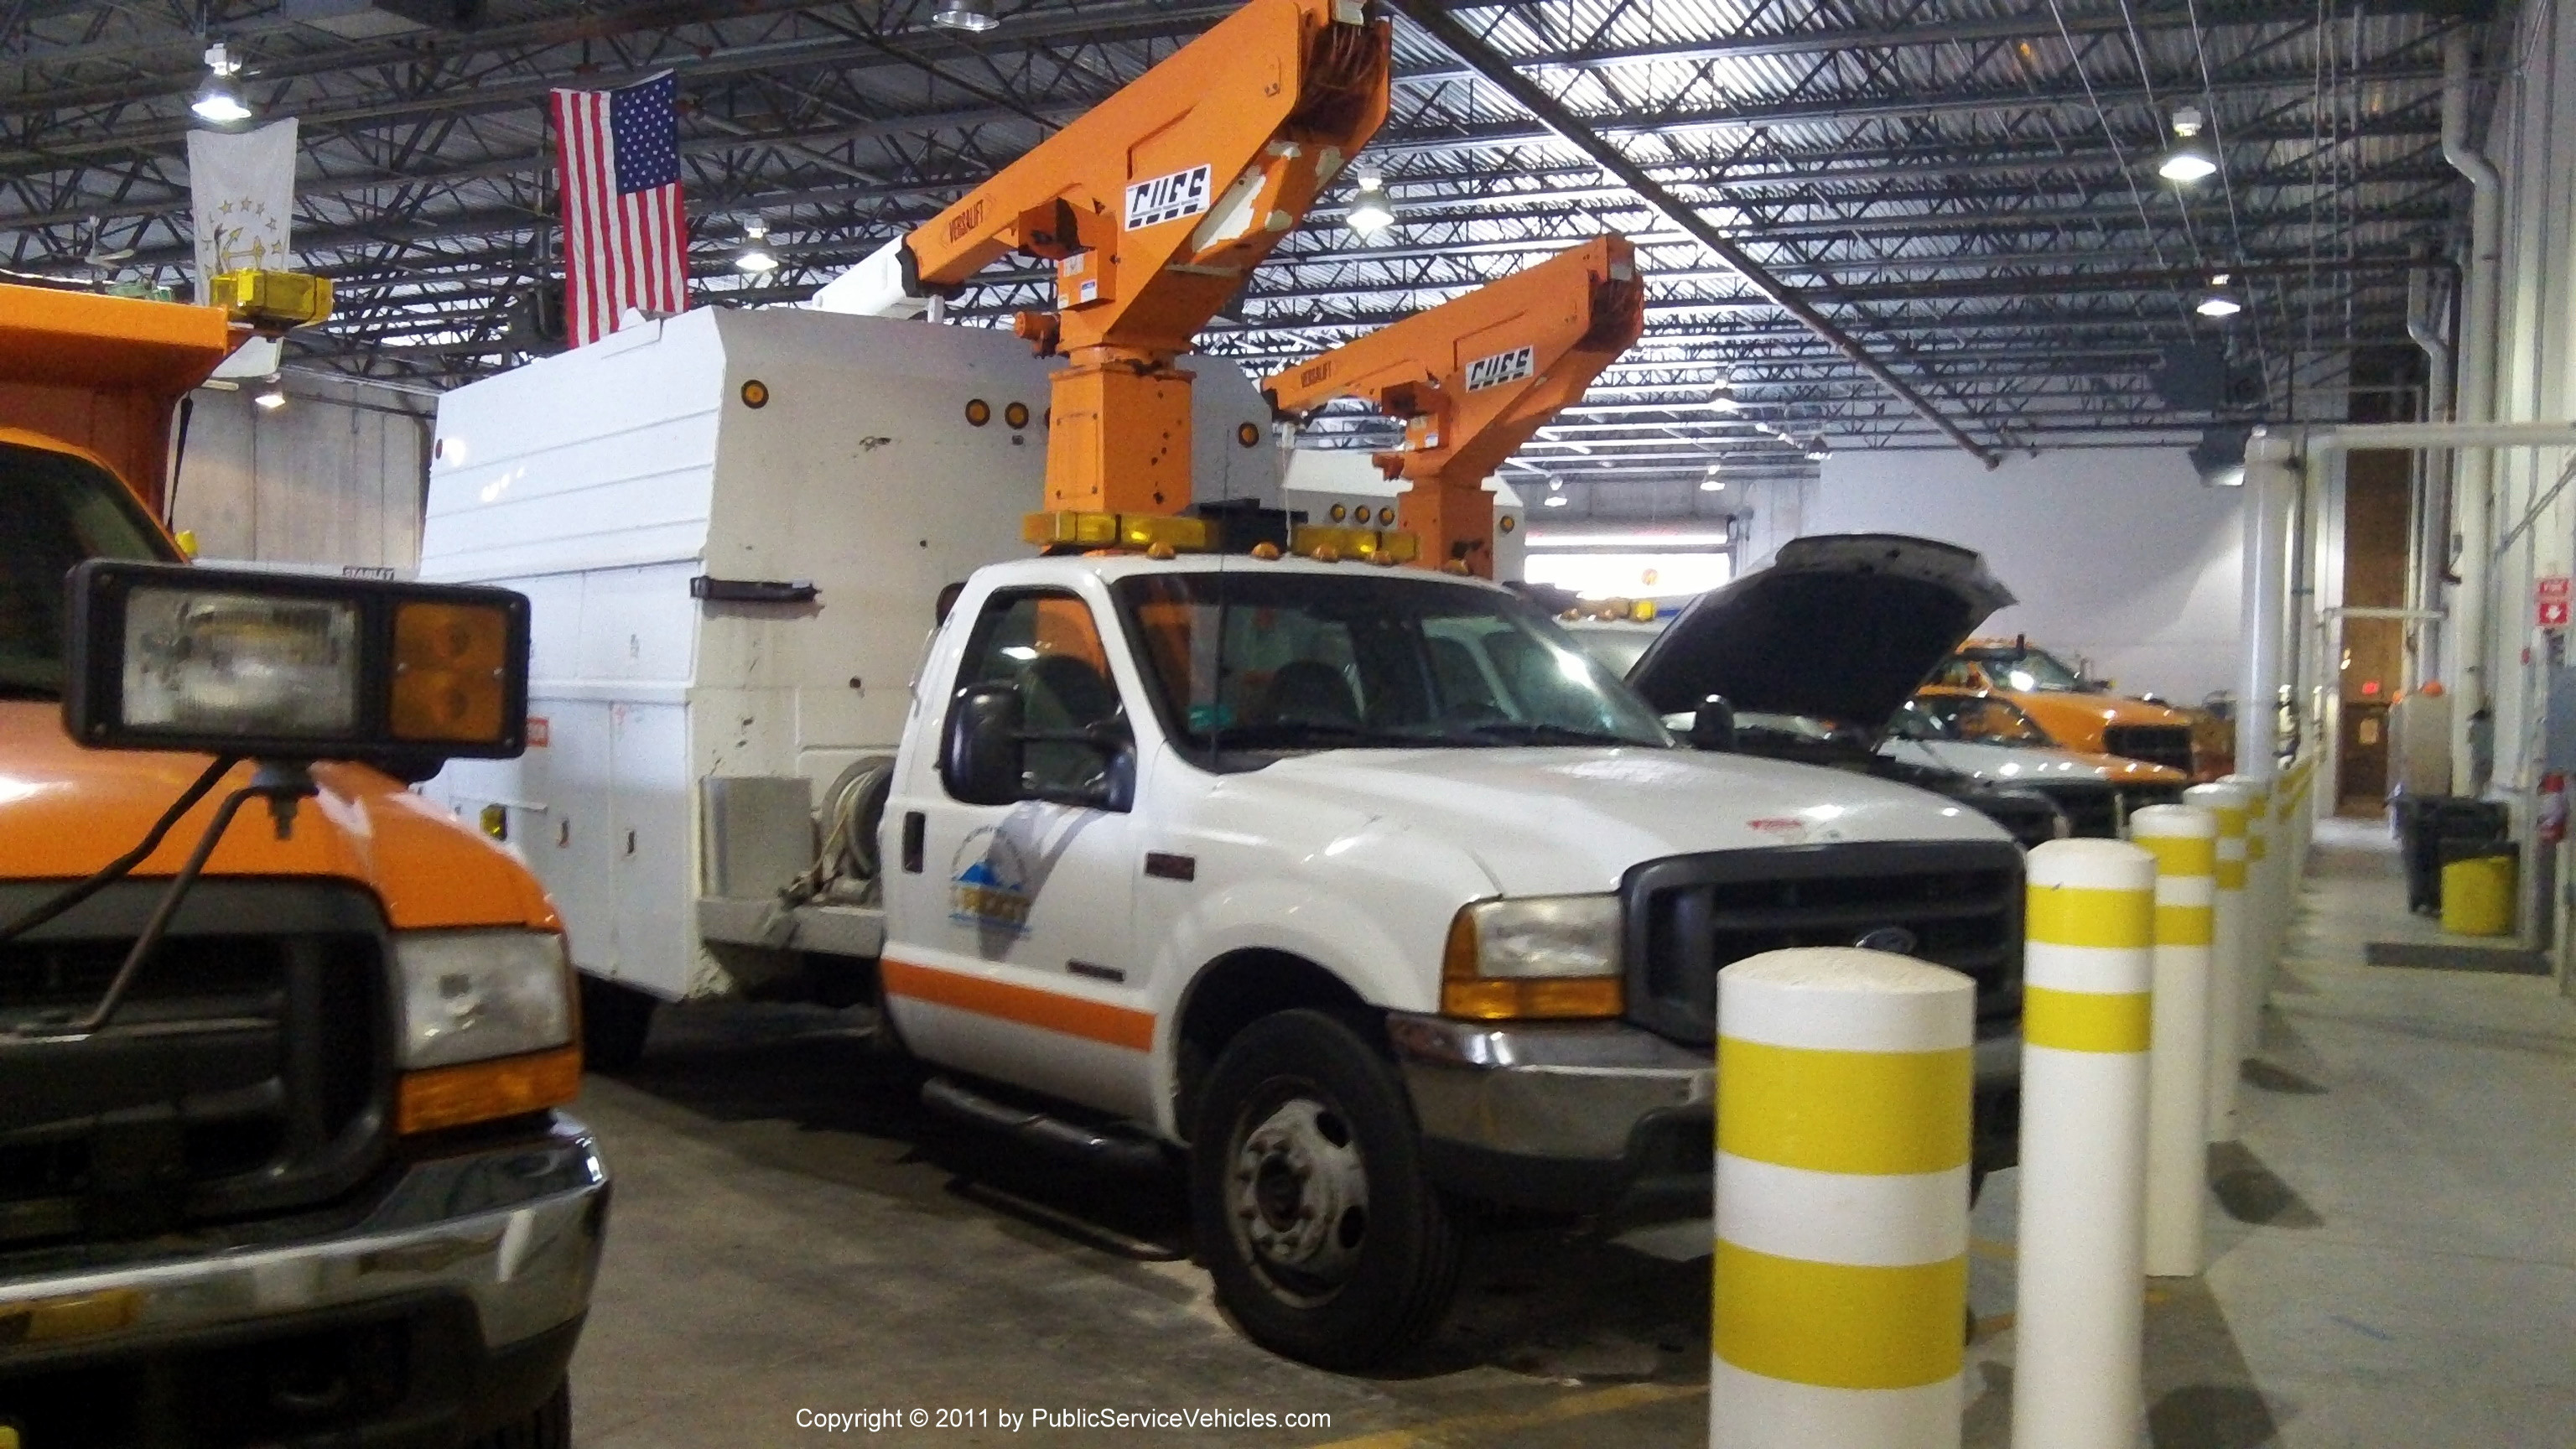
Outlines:
[[1754, 554], [1793, 534], [1965, 544], [2022, 601], [1981, 634], [2089, 655], [2123, 694], [2200, 704], [2236, 686], [2236, 490], [2202, 487], [2182, 449], [2014, 454], [1994, 472], [1958, 451], [1844, 451], [1801, 492], [1757, 505]]

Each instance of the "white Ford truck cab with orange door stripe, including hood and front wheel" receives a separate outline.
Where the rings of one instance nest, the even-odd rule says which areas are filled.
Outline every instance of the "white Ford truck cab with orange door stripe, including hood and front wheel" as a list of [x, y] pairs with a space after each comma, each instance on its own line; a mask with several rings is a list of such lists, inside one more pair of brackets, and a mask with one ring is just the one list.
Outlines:
[[1875, 941], [1981, 987], [2009, 1093], [2020, 856], [1865, 776], [1695, 753], [1533, 603], [1255, 557], [992, 565], [881, 822], [922, 1060], [1188, 1150], [1262, 1343], [1370, 1361], [1461, 1201], [1700, 1214], [1716, 969]]

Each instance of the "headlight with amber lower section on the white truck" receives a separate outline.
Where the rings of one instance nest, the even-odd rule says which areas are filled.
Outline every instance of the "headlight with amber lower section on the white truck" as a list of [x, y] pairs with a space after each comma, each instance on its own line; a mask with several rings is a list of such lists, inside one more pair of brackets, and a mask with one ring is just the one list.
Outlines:
[[1623, 1006], [1615, 895], [1481, 900], [1450, 920], [1440, 964], [1448, 1016], [1618, 1016]]

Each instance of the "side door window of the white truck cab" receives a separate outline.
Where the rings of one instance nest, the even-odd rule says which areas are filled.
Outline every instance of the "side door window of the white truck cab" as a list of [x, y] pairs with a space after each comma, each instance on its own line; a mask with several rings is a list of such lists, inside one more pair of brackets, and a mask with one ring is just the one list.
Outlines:
[[[1007, 683], [1030, 732], [1126, 727], [1100, 627], [1072, 593], [1018, 590], [984, 601], [958, 683]], [[1108, 768], [1108, 750], [1069, 740], [1030, 740], [1020, 758], [1025, 784], [1046, 792], [1100, 789]]]

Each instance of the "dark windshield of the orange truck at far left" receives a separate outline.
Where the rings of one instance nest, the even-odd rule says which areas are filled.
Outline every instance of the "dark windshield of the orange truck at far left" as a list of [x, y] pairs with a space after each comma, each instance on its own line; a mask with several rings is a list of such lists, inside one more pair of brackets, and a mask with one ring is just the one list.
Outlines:
[[62, 696], [62, 575], [160, 559], [126, 485], [52, 449], [0, 443], [0, 699]]

